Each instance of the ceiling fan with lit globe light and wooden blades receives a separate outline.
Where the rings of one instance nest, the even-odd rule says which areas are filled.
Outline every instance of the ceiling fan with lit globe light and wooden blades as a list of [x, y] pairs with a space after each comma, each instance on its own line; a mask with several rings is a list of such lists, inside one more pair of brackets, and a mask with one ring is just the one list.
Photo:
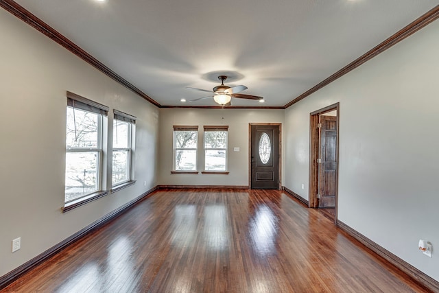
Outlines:
[[189, 103], [198, 101], [200, 99], [208, 99], [209, 97], [213, 97], [215, 102], [217, 102], [222, 106], [230, 106], [231, 105], [230, 100], [232, 99], [232, 97], [237, 97], [238, 99], [256, 99], [258, 101], [263, 101], [263, 97], [258, 97], [257, 95], [242, 94], [241, 91], [245, 91], [246, 89], [248, 89], [247, 86], [243, 86], [243, 85], [233, 86], [233, 87], [225, 86], [224, 80], [227, 79], [226, 75], [219, 75], [218, 79], [221, 80], [221, 85], [215, 86], [212, 91], [187, 87], [186, 89], [193, 89], [195, 91], [205, 91], [207, 93], [213, 93], [213, 95], [209, 95], [207, 97], [199, 97], [198, 99], [191, 99]]

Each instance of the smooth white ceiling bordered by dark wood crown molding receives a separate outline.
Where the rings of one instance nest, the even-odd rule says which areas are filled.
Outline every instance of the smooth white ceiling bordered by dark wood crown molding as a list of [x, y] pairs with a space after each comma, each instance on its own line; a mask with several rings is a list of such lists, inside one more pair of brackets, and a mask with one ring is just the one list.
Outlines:
[[[16, 0], [163, 106], [217, 106], [235, 71], [243, 93], [284, 106], [439, 4], [432, 0]], [[209, 95], [209, 94], [207, 94]]]

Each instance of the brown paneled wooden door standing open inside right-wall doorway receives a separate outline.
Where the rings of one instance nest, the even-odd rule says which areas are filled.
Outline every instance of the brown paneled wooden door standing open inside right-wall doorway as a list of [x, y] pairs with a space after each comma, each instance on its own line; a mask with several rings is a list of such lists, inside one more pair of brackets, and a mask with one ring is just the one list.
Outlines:
[[[337, 117], [320, 115], [318, 207], [335, 207], [337, 180]], [[318, 197], [319, 197], [318, 196]]]

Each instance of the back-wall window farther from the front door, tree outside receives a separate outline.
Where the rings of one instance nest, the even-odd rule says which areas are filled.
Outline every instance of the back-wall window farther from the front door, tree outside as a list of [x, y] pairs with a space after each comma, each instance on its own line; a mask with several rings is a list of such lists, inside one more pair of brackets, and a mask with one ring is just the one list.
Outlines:
[[174, 170], [196, 171], [198, 126], [174, 126]]

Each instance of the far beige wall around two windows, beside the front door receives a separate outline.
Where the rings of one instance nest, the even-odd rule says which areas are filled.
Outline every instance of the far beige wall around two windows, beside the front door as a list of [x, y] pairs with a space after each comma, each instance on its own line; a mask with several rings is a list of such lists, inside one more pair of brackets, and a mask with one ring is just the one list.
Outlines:
[[[167, 109], [160, 110], [159, 185], [239, 185], [248, 186], [248, 124], [281, 123], [284, 110], [263, 109]], [[224, 119], [223, 119], [224, 118]], [[204, 125], [228, 127], [228, 175], [171, 174], [174, 125], [198, 125], [198, 170], [202, 165], [202, 132]], [[233, 148], [238, 147], [239, 152]]]

